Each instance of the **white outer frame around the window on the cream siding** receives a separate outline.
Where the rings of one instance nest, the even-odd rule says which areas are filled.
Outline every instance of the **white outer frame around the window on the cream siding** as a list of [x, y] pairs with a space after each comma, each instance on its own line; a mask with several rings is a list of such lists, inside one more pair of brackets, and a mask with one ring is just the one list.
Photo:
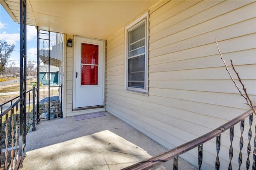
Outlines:
[[[129, 30], [137, 27], [138, 25], [142, 24], [142, 22], [146, 23], [146, 44], [145, 44], [145, 79], [144, 79], [144, 89], [142, 88], [134, 88], [134, 87], [128, 87], [128, 32]], [[131, 91], [131, 92], [138, 92], [138, 93], [144, 93], [148, 95], [148, 12], [134, 20], [132, 23], [130, 23], [128, 26], [124, 29], [124, 90], [125, 91]]]

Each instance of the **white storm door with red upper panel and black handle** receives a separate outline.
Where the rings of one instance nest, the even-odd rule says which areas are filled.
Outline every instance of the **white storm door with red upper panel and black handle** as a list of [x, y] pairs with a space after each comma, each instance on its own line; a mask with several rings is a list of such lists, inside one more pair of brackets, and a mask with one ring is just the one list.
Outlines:
[[75, 37], [73, 108], [104, 105], [104, 41]]

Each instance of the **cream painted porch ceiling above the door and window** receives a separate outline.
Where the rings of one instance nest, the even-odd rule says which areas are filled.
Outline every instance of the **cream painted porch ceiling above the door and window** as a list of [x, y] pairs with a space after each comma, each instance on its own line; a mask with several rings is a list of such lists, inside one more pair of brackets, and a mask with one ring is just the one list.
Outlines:
[[[40, 30], [107, 40], [160, 0], [27, 0], [27, 24]], [[15, 22], [19, 1], [1, 0]]]

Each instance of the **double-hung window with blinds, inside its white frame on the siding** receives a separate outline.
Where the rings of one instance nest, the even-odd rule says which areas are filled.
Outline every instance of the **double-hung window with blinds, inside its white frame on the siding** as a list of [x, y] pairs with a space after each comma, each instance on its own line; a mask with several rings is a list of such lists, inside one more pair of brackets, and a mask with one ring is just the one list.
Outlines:
[[147, 92], [147, 16], [126, 27], [126, 90]]

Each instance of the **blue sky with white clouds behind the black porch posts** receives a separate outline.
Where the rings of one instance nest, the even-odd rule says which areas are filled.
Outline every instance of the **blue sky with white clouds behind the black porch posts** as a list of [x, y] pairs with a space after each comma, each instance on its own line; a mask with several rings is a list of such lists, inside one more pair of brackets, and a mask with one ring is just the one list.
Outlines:
[[[27, 26], [27, 61], [36, 61], [36, 27]], [[0, 40], [14, 44], [14, 51], [10, 55], [9, 62], [15, 62], [15, 67], [20, 65], [20, 24], [14, 22], [5, 9], [0, 5]], [[51, 44], [56, 41], [56, 34], [50, 34]], [[40, 45], [41, 47], [42, 45]]]

